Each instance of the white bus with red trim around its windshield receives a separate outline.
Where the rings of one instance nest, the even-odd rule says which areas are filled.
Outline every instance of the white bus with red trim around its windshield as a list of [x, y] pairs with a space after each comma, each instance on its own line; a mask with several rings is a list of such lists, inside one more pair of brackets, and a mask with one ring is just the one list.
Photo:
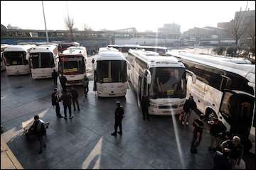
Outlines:
[[82, 85], [86, 69], [87, 52], [85, 47], [68, 47], [60, 54], [59, 71], [67, 77], [67, 85]]

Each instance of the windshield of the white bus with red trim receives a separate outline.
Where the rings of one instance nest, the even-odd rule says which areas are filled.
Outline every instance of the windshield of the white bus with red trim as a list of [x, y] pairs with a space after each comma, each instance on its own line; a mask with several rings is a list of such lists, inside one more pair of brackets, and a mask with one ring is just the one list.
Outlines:
[[84, 57], [61, 57], [60, 70], [64, 74], [82, 74], [85, 73], [85, 60]]

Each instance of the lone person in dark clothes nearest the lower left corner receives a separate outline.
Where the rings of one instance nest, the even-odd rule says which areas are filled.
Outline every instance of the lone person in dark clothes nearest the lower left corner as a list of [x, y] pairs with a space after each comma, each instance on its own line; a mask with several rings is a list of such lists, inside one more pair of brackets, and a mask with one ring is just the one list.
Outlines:
[[41, 154], [43, 152], [43, 148], [46, 148], [46, 123], [43, 122], [43, 120], [39, 119], [39, 115], [34, 116], [34, 122], [33, 125], [29, 128], [29, 131], [35, 132], [36, 136], [38, 137], [38, 140], [40, 142], [40, 149], [38, 154]]

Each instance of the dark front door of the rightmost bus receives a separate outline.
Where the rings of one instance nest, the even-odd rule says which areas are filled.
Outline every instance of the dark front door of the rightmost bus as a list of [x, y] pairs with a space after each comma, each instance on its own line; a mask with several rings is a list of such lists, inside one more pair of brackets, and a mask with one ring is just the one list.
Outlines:
[[252, 127], [255, 97], [245, 92], [224, 91], [218, 119], [227, 130], [247, 138]]

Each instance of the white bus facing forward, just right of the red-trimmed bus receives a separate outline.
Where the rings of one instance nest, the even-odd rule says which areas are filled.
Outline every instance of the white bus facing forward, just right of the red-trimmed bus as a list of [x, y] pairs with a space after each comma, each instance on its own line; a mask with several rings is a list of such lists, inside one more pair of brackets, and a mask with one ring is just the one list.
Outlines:
[[122, 52], [100, 48], [93, 64], [94, 91], [99, 97], [125, 96], [127, 92], [127, 63]]

